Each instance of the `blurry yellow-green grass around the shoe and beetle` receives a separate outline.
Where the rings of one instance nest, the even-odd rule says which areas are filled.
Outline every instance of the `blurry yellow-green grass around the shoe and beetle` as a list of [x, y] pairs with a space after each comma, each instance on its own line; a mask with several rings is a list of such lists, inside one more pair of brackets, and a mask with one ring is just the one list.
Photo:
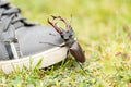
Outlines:
[[[130, 0], [11, 0], [28, 20], [50, 15], [71, 20], [86, 62], [68, 59], [45, 70], [0, 73], [2, 87], [131, 87]], [[52, 58], [53, 59], [53, 58]]]

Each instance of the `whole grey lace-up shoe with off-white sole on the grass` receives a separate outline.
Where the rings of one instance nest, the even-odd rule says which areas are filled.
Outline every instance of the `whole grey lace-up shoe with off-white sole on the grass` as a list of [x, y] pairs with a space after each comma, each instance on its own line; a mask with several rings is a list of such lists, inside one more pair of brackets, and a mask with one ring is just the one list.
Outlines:
[[74, 38], [67, 44], [55, 26], [29, 23], [20, 13], [10, 2], [0, 1], [0, 69], [8, 74], [23, 65], [29, 69], [31, 60], [32, 66], [43, 60], [39, 69], [64, 60]]

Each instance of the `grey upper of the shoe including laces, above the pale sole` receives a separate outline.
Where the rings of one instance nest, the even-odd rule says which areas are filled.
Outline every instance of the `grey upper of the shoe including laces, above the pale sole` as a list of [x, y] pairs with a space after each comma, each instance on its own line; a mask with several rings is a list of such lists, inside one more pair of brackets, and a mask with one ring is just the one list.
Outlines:
[[51, 26], [28, 23], [20, 15], [20, 9], [0, 1], [0, 60], [32, 55], [62, 42]]

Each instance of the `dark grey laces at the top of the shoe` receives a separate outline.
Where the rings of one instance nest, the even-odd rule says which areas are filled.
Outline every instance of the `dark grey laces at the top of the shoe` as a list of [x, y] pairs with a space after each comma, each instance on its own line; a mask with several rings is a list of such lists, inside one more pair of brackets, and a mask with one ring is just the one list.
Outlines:
[[4, 24], [3, 32], [8, 30], [10, 24], [21, 22], [24, 26], [32, 26], [34, 24], [26, 22], [26, 18], [21, 14], [19, 8], [14, 8], [10, 2], [0, 1], [0, 22]]

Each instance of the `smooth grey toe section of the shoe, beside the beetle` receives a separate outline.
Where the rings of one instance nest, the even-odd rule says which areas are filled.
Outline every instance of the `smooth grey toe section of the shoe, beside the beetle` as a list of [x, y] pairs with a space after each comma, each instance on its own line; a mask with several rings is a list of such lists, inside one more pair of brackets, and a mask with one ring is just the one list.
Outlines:
[[16, 30], [16, 37], [23, 55], [46, 51], [63, 42], [50, 26], [22, 27]]

